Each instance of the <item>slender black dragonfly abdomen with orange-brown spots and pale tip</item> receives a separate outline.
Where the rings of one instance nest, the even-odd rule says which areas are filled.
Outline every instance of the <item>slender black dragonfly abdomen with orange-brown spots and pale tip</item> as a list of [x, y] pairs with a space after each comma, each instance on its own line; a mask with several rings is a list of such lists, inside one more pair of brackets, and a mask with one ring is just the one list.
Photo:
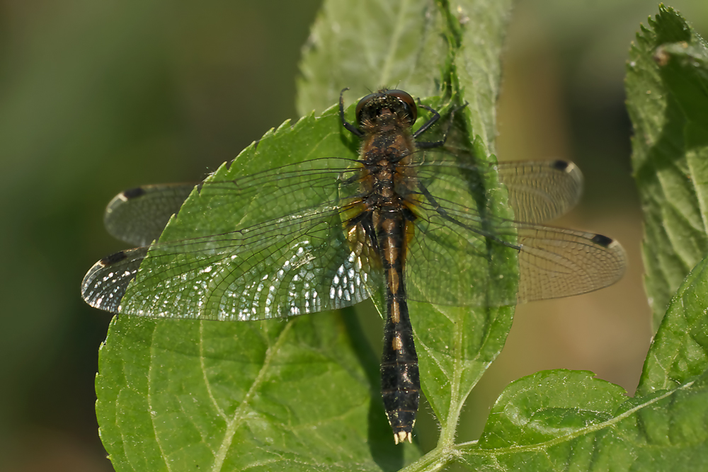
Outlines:
[[381, 358], [381, 393], [396, 444], [412, 442], [421, 378], [413, 343], [404, 283], [406, 221], [404, 212], [382, 212], [377, 236], [386, 277], [386, 324]]

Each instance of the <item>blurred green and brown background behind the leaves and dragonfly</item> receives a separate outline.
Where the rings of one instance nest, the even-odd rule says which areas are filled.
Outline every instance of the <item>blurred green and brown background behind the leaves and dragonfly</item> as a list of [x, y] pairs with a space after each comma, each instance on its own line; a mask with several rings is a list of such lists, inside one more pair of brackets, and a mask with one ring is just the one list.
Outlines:
[[[707, 33], [708, 2], [670, 5]], [[112, 470], [93, 411], [110, 316], [79, 296], [86, 270], [125, 248], [103, 229], [105, 204], [135, 185], [198, 180], [296, 119], [318, 6], [0, 1], [0, 470]], [[520, 307], [459, 439], [476, 439], [509, 381], [540, 369], [592, 370], [634, 392], [651, 331], [622, 80], [629, 42], [656, 13], [646, 0], [518, 3], [499, 157], [578, 163], [586, 195], [557, 224], [619, 239], [629, 272], [601, 292]]]

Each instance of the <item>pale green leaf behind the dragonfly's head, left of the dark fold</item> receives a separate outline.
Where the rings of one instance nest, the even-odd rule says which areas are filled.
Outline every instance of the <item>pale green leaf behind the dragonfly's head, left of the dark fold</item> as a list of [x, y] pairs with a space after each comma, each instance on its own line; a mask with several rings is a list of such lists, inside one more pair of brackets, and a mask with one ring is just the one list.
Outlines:
[[321, 112], [345, 87], [351, 98], [381, 87], [440, 95], [450, 53], [443, 8], [428, 0], [324, 2], [300, 62], [299, 113]]

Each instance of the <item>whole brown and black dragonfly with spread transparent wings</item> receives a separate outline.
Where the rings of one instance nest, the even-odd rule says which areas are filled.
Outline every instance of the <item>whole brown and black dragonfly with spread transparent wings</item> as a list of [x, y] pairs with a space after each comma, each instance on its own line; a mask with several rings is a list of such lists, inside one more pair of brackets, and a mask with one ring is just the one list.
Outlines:
[[[617, 282], [626, 257], [607, 236], [542, 225], [578, 201], [583, 180], [573, 163], [476, 164], [447, 143], [462, 107], [441, 125], [437, 110], [401, 90], [362, 98], [353, 125], [346, 90], [339, 116], [360, 140], [358, 156], [198, 183], [208, 212], [220, 218], [226, 209], [229, 221], [195, 224], [176, 240], [159, 237], [173, 214], [185, 217], [195, 184], [126, 190], [109, 203], [105, 226], [139, 247], [99, 260], [81, 292], [112, 313], [219, 321], [288, 318], [383, 293], [382, 401], [394, 442], [412, 442], [421, 384], [409, 300], [507, 306], [568, 297]], [[430, 117], [413, 131], [419, 108]], [[440, 139], [424, 141], [434, 127]], [[513, 218], [497, 216], [480, 195], [492, 173]], [[498, 248], [518, 260], [513, 291], [503, 274], [450, 270], [486, 267]]]

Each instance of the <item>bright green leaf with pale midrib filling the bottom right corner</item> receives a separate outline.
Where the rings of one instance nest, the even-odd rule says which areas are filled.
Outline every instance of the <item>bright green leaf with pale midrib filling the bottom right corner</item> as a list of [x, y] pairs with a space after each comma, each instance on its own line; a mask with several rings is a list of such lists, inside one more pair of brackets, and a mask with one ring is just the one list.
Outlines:
[[708, 461], [708, 258], [673, 298], [634, 398], [591, 372], [538, 372], [499, 396], [479, 442], [490, 471], [702, 471]]

